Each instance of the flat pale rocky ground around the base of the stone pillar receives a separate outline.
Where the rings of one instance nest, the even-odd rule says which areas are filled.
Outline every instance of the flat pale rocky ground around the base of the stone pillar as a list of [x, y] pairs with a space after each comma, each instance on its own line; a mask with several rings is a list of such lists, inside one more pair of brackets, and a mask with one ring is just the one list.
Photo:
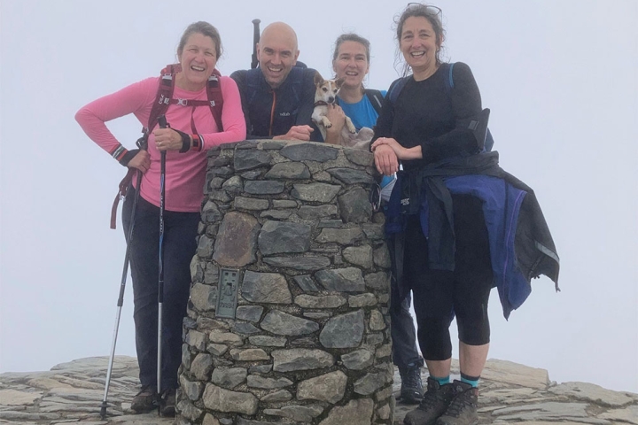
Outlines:
[[[108, 417], [99, 416], [106, 357], [78, 359], [49, 372], [0, 375], [0, 424], [171, 424], [157, 413], [131, 414], [137, 391], [136, 359], [116, 357]], [[458, 374], [457, 364], [453, 373]], [[424, 380], [427, 371], [424, 369]], [[398, 378], [398, 373], [395, 378]], [[398, 393], [399, 384], [394, 386]], [[546, 370], [488, 360], [481, 378], [480, 423], [548, 425], [638, 425], [638, 394], [605, 390], [591, 383], [549, 381]], [[395, 423], [415, 406], [397, 404]], [[347, 425], [347, 424], [344, 424]]]

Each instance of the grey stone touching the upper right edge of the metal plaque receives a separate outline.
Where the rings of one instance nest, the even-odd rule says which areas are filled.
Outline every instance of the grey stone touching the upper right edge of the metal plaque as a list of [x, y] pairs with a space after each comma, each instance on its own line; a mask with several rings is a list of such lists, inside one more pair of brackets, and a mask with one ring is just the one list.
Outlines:
[[241, 295], [253, 303], [292, 303], [288, 283], [284, 275], [278, 273], [256, 273], [246, 270]]

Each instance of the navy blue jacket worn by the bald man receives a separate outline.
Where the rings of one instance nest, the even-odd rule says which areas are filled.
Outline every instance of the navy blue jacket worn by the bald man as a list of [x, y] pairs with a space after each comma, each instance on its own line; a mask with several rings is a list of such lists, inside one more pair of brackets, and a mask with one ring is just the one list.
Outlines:
[[232, 73], [230, 78], [237, 82], [242, 99], [247, 138], [272, 138], [285, 135], [292, 126], [308, 125], [315, 129], [310, 140], [323, 142], [312, 122], [315, 73], [311, 68], [293, 66], [277, 89], [268, 85], [259, 67]]

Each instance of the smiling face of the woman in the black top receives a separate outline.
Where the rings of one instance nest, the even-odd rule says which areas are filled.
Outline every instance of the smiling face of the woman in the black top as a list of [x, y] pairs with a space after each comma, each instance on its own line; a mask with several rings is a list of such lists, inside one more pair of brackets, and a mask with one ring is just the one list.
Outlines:
[[436, 53], [440, 42], [432, 28], [432, 23], [421, 16], [411, 16], [401, 29], [401, 53], [416, 79], [432, 75], [437, 68]]

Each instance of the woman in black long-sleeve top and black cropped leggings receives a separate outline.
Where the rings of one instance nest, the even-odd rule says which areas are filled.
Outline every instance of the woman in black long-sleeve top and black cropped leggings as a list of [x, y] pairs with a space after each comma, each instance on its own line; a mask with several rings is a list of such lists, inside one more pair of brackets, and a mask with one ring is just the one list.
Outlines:
[[[454, 89], [450, 89], [450, 65], [442, 64], [439, 57], [444, 40], [440, 10], [408, 4], [398, 19], [396, 35], [412, 74], [394, 81], [385, 97], [372, 144], [378, 171], [393, 174], [401, 161], [405, 174], [414, 174], [441, 159], [476, 153], [476, 137], [457, 122], [481, 111], [480, 93], [470, 67], [463, 63], [453, 67]], [[393, 90], [401, 91], [396, 96]], [[430, 373], [423, 402], [406, 416], [408, 425], [478, 423], [476, 387], [489, 347], [492, 267], [480, 200], [471, 195], [451, 197], [455, 231], [451, 267], [433, 268], [428, 261], [423, 214], [406, 217], [402, 236], [403, 282], [414, 293], [418, 341]], [[450, 383], [449, 326], [454, 316], [461, 381]]]

